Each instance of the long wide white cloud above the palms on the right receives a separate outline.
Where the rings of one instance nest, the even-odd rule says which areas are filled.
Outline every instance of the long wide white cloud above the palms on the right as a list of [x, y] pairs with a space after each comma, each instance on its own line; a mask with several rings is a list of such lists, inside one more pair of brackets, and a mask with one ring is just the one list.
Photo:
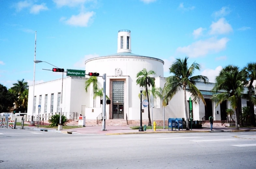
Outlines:
[[210, 52], [219, 52], [226, 48], [228, 38], [209, 38], [200, 40], [185, 47], [178, 47], [177, 52], [187, 54], [189, 57], [204, 56]]

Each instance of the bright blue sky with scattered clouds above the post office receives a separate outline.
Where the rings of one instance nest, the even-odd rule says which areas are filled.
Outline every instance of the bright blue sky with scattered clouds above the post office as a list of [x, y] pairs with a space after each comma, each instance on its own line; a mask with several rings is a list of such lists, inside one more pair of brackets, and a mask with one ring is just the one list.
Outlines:
[[[84, 69], [91, 57], [117, 52], [118, 30], [131, 30], [134, 54], [201, 64], [210, 82], [222, 66], [256, 61], [255, 0], [0, 0], [0, 83], [33, 84], [36, 59]], [[36, 64], [36, 83], [61, 78]], [[64, 74], [64, 77], [65, 74]]]

